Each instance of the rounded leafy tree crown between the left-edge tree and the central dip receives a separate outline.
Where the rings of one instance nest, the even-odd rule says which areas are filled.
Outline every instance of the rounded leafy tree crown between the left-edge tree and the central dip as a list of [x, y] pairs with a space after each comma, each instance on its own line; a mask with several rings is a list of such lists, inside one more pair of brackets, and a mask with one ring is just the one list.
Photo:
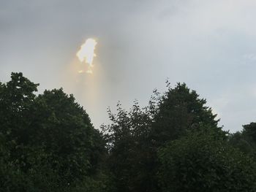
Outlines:
[[28, 145], [43, 145], [67, 180], [90, 172], [93, 135], [89, 116], [62, 89], [45, 91], [31, 107]]

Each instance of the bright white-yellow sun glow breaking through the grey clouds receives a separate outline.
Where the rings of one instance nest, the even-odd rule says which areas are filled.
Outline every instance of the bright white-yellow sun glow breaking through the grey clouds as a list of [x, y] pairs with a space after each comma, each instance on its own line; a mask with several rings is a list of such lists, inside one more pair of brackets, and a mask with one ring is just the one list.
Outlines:
[[78, 53], [76, 54], [80, 62], [89, 64], [89, 69], [86, 71], [87, 73], [92, 73], [91, 68], [93, 67], [92, 63], [94, 61], [94, 57], [96, 57], [96, 54], [94, 53], [96, 45], [97, 42], [94, 39], [86, 39], [86, 42], [81, 45], [80, 50], [78, 50]]

